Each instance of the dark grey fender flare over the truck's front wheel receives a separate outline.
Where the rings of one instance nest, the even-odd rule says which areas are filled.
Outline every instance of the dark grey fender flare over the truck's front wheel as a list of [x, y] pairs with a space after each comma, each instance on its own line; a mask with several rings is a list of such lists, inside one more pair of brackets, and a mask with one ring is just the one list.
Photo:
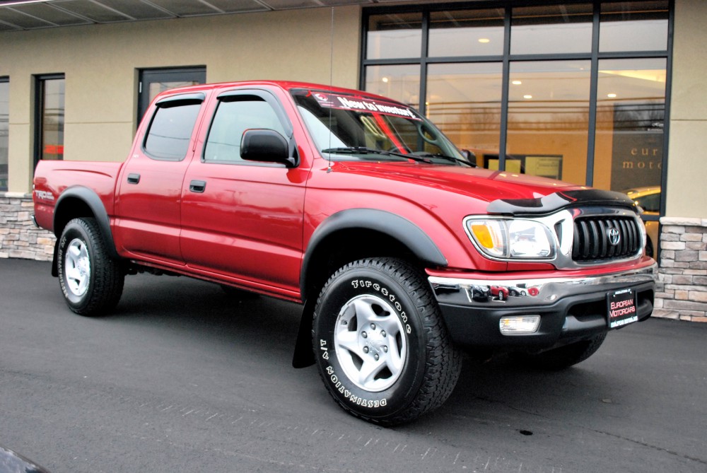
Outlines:
[[307, 275], [312, 264], [312, 255], [316, 253], [317, 247], [332, 233], [354, 228], [385, 233], [407, 246], [421, 261], [433, 266], [448, 265], [447, 258], [432, 238], [407, 218], [378, 209], [347, 209], [329, 216], [312, 233], [300, 269], [300, 291], [303, 297], [306, 294]]

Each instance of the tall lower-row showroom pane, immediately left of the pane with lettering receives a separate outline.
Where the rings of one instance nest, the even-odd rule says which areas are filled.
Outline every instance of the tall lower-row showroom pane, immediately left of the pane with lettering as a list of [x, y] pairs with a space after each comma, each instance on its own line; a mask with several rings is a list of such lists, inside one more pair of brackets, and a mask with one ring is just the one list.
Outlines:
[[584, 185], [590, 61], [512, 62], [506, 169]]

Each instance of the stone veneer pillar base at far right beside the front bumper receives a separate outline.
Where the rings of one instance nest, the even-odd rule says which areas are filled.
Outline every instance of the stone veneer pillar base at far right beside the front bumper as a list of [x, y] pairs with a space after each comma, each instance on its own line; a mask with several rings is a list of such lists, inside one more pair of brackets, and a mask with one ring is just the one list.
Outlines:
[[707, 218], [660, 219], [655, 317], [707, 322]]

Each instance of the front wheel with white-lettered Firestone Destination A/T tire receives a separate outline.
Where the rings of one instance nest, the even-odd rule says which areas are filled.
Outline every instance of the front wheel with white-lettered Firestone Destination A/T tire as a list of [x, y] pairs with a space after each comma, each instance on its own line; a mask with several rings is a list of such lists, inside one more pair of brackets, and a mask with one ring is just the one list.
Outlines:
[[317, 300], [312, 336], [329, 394], [375, 424], [436, 409], [459, 378], [460, 350], [430, 286], [399, 259], [361, 259], [336, 271]]

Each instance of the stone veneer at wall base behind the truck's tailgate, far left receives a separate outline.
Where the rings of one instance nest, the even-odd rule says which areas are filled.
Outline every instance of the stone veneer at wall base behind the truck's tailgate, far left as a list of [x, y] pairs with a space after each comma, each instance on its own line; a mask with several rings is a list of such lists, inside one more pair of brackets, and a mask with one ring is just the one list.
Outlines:
[[35, 227], [31, 194], [0, 192], [0, 258], [51, 261], [54, 234]]

